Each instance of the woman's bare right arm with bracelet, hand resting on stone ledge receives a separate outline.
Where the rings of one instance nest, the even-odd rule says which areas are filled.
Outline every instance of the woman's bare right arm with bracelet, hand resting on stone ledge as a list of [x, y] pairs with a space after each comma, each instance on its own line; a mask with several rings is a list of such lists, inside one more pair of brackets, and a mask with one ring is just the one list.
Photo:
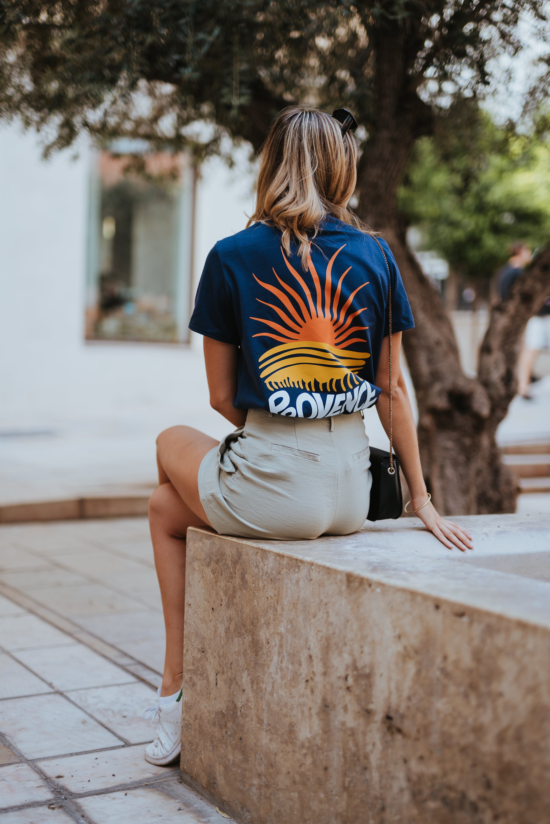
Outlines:
[[[392, 419], [394, 430], [394, 452], [399, 457], [399, 464], [407, 481], [411, 494], [411, 508], [417, 509], [426, 503], [427, 491], [422, 476], [422, 466], [418, 453], [417, 428], [414, 425], [413, 409], [408, 398], [407, 386], [401, 372], [399, 353], [401, 351], [401, 332], [392, 335]], [[380, 362], [375, 377], [376, 386], [382, 394], [378, 399], [376, 410], [382, 426], [389, 436], [389, 338], [386, 336], [380, 351]], [[417, 513], [427, 529], [433, 532], [442, 544], [452, 549], [472, 549], [472, 536], [468, 531], [451, 521], [445, 521], [432, 503], [428, 503]]]

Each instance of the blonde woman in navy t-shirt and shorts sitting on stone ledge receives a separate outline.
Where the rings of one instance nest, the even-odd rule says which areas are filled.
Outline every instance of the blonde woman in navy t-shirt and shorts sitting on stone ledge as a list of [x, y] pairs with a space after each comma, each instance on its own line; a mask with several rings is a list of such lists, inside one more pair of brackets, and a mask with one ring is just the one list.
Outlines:
[[364, 524], [371, 472], [361, 410], [376, 403], [389, 431], [390, 288], [394, 445], [411, 505], [449, 549], [472, 546], [426, 493], [399, 368], [413, 315], [389, 246], [347, 208], [357, 180], [349, 122], [307, 106], [277, 116], [254, 215], [203, 269], [189, 328], [204, 335], [211, 405], [236, 429], [220, 444], [186, 426], [157, 440], [149, 520], [166, 653], [152, 764], [179, 755], [188, 527], [306, 539]]

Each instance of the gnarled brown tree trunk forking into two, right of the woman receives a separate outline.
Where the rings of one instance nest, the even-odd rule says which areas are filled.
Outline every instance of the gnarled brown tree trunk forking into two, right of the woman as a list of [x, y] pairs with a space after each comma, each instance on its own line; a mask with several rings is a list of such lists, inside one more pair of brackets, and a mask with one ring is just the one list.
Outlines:
[[359, 167], [361, 218], [388, 241], [413, 309], [415, 329], [403, 334], [403, 347], [417, 395], [422, 470], [436, 508], [445, 515], [514, 512], [517, 485], [495, 434], [515, 394], [524, 326], [550, 291], [550, 250], [493, 309], [479, 376], [465, 376], [450, 317], [408, 250], [397, 213], [410, 148], [430, 132], [427, 106], [406, 86], [400, 36], [376, 32], [377, 129]]

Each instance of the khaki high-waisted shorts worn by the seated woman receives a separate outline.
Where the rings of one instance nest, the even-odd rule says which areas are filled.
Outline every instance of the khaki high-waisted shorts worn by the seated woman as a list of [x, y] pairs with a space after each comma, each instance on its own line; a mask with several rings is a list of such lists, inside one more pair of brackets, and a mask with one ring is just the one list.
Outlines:
[[369, 466], [360, 412], [317, 420], [249, 410], [245, 427], [204, 456], [198, 492], [221, 535], [347, 535], [369, 511]]

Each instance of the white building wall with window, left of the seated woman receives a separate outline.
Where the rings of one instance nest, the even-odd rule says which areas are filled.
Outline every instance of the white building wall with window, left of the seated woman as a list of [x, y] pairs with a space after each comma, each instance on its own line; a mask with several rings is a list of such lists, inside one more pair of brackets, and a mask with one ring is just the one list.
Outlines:
[[[207, 162], [196, 186], [183, 161], [171, 197], [146, 185], [129, 204], [116, 185], [100, 191], [99, 166], [111, 167], [109, 178], [117, 163], [86, 146], [76, 159], [63, 152], [44, 162], [35, 134], [0, 131], [0, 430], [204, 400], [201, 343], [187, 323], [208, 250], [244, 228], [252, 208], [246, 153], [231, 170]], [[120, 175], [118, 183], [124, 189]], [[110, 278], [101, 267], [113, 265], [113, 279], [126, 265], [126, 296], [110, 295], [112, 282], [98, 295], [100, 278]], [[100, 322], [98, 297], [115, 304]], [[116, 339], [124, 335], [142, 342]], [[178, 342], [147, 342], [155, 336]]]

